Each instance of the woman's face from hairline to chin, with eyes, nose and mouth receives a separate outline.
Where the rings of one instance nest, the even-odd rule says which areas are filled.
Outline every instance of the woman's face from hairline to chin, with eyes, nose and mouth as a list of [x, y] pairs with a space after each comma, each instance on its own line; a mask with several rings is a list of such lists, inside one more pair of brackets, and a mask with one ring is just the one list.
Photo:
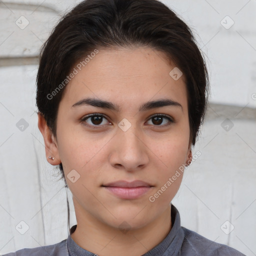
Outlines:
[[49, 145], [76, 216], [139, 228], [169, 207], [182, 172], [172, 176], [190, 155], [185, 78], [173, 79], [174, 67], [163, 53], [140, 47], [98, 49], [76, 68]]

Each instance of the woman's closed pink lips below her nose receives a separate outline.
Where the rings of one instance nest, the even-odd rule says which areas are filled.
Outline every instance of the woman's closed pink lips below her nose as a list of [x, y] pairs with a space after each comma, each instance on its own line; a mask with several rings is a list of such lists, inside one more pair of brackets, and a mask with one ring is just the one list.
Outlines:
[[146, 193], [152, 186], [142, 180], [128, 182], [118, 180], [102, 185], [121, 199], [135, 199]]

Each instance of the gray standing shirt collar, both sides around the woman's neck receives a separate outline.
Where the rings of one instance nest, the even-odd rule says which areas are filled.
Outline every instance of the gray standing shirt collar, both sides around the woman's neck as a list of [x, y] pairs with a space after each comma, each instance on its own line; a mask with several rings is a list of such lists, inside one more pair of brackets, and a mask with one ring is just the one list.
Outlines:
[[[183, 229], [180, 227], [180, 216], [177, 208], [171, 204], [171, 223], [172, 227], [167, 236], [155, 247], [147, 251], [142, 256], [176, 256], [181, 248], [181, 244], [184, 239]], [[74, 232], [76, 225], [70, 228], [70, 234]], [[67, 248], [70, 256], [96, 256], [92, 252], [89, 252], [81, 248], [72, 239], [71, 235], [67, 237]]]

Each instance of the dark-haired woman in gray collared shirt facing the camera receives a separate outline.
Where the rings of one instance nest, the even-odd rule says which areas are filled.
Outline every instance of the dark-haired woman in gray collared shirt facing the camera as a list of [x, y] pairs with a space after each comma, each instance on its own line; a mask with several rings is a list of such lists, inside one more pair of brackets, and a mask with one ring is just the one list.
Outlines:
[[163, 3], [75, 6], [41, 50], [36, 103], [77, 225], [59, 243], [6, 255], [244, 255], [181, 227], [170, 203], [207, 98], [203, 56]]

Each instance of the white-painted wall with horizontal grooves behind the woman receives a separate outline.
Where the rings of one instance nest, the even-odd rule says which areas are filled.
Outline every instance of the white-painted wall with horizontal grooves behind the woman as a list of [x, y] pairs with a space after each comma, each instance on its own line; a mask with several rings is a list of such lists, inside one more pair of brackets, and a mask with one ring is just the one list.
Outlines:
[[[35, 75], [39, 47], [77, 2], [0, 1], [0, 253], [67, 237], [64, 182], [46, 161], [37, 128]], [[181, 225], [256, 255], [256, 1], [163, 2], [195, 29], [211, 81], [210, 106], [194, 148], [201, 156], [185, 170], [172, 203]], [[71, 226], [76, 222], [68, 196]], [[228, 234], [226, 220], [234, 226]], [[15, 228], [20, 221], [28, 225], [24, 234]]]

